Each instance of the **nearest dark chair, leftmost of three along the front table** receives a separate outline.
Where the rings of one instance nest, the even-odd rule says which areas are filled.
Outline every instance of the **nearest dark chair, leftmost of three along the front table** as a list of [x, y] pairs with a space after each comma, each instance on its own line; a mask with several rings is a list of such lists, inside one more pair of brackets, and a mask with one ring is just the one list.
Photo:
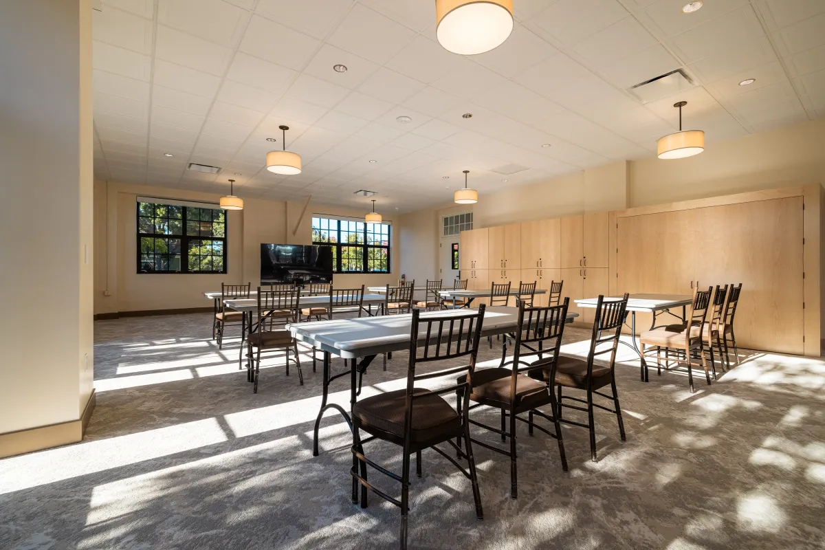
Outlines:
[[[481, 492], [469, 438], [467, 412], [469, 388], [473, 383], [479, 350], [484, 306], [479, 307], [478, 311], [459, 314], [449, 312], [424, 319], [420, 318], [420, 314], [420, 310], [413, 311], [407, 388], [367, 397], [352, 406], [352, 502], [359, 501], [360, 486], [361, 508], [367, 507], [368, 489], [385, 501], [398, 506], [401, 509], [402, 550], [407, 548], [410, 455], [415, 454], [416, 475], [421, 477], [423, 449], [435, 450], [469, 478], [473, 486], [476, 517], [483, 519]], [[426, 373], [417, 373], [420, 364], [442, 361], [455, 364], [455, 361], [461, 358], [466, 358], [466, 362], [462, 361], [459, 366], [449, 366], [436, 372], [427, 369]], [[442, 378], [455, 374], [462, 374], [458, 383], [442, 386], [437, 390], [416, 386], [418, 382], [428, 378]], [[464, 399], [457, 407], [459, 411], [455, 411], [441, 395], [460, 390], [464, 391]], [[361, 439], [362, 430], [370, 434], [370, 437]], [[460, 449], [453, 442], [457, 437], [464, 439], [464, 449]], [[373, 440], [389, 441], [402, 448], [400, 475], [366, 458], [363, 445]], [[436, 447], [442, 443], [450, 444], [460, 458], [467, 460], [469, 468], [464, 469], [450, 454]], [[389, 496], [367, 480], [367, 466], [401, 484], [400, 500]]]

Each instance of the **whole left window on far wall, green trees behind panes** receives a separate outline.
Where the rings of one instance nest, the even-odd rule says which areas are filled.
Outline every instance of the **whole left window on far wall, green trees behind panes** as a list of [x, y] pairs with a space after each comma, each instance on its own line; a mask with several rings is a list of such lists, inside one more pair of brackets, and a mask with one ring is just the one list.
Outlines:
[[226, 273], [222, 209], [138, 201], [138, 273]]

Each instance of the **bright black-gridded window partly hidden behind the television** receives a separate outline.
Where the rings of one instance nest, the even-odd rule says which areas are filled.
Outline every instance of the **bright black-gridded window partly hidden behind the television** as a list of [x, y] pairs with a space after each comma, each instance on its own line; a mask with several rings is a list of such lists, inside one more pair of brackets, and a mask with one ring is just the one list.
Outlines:
[[332, 247], [336, 273], [389, 273], [389, 224], [312, 219], [313, 244]]

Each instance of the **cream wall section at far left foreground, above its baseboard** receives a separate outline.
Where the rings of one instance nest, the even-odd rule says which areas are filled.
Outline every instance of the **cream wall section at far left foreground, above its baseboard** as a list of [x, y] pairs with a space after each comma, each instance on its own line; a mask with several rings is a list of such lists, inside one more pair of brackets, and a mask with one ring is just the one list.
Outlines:
[[91, 16], [2, 7], [0, 434], [78, 421], [92, 393]]

